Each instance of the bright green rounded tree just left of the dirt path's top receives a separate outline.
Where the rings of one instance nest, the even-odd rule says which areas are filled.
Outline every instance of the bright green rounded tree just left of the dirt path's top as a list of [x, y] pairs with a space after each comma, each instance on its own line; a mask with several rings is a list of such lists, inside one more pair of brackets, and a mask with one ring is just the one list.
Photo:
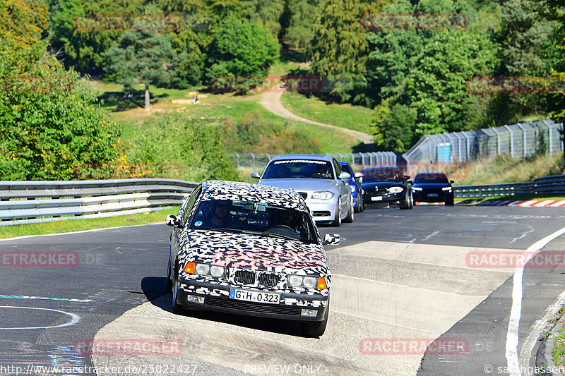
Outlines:
[[218, 26], [208, 51], [210, 81], [224, 77], [262, 77], [278, 58], [278, 42], [253, 21], [229, 16]]

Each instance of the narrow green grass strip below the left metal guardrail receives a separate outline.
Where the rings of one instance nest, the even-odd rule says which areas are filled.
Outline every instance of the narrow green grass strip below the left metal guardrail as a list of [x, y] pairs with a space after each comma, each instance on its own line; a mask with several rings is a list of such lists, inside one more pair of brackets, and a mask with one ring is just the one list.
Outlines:
[[177, 214], [178, 207], [155, 212], [120, 215], [117, 217], [69, 219], [66, 221], [46, 222], [37, 224], [16, 224], [2, 226], [0, 238], [13, 238], [15, 236], [59, 234], [65, 232], [105, 229], [107, 227], [133, 226], [136, 224], [165, 223], [167, 214]]

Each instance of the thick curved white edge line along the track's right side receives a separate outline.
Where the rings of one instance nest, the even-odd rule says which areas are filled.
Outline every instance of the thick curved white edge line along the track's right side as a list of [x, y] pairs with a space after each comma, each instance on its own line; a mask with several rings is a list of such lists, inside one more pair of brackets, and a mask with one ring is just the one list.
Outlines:
[[535, 256], [550, 241], [558, 236], [565, 234], [565, 227], [553, 234], [536, 241], [524, 253], [523, 265], [516, 267], [512, 285], [512, 309], [510, 311], [510, 320], [508, 332], [506, 332], [506, 363], [508, 365], [511, 376], [521, 376], [520, 362], [518, 360], [518, 329], [520, 328], [520, 317], [522, 313], [522, 275], [526, 263]]

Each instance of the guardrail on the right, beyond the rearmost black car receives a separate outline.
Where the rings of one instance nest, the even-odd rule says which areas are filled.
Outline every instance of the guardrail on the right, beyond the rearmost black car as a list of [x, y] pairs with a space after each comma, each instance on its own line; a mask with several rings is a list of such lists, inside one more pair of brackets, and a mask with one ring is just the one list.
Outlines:
[[513, 195], [565, 195], [565, 175], [543, 176], [526, 183], [454, 186], [456, 198], [485, 198]]

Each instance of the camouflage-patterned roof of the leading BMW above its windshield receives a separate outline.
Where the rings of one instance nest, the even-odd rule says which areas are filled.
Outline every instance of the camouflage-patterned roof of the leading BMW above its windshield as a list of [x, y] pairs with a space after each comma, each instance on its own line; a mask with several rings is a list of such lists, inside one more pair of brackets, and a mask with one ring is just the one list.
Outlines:
[[242, 181], [205, 181], [202, 186], [203, 198], [217, 200], [261, 200], [269, 205], [308, 211], [302, 196], [294, 190], [244, 183]]

